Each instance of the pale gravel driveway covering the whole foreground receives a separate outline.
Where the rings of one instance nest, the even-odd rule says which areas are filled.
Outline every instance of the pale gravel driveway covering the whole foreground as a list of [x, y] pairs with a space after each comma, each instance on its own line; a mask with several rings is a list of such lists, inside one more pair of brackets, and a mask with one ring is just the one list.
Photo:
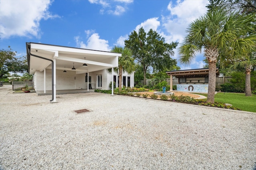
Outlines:
[[98, 93], [50, 99], [0, 87], [0, 169], [256, 168], [256, 113]]

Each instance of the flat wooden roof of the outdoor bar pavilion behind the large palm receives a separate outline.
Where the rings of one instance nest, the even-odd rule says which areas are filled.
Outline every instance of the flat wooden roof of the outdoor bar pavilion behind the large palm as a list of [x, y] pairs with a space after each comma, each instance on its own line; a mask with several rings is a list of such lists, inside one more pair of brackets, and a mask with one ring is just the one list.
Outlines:
[[[198, 68], [190, 70], [176, 70], [176, 71], [167, 71], [169, 76], [175, 76], [176, 78], [189, 78], [189, 77], [208, 77], [209, 69], [208, 68]], [[216, 76], [219, 76], [219, 69], [216, 68]]]

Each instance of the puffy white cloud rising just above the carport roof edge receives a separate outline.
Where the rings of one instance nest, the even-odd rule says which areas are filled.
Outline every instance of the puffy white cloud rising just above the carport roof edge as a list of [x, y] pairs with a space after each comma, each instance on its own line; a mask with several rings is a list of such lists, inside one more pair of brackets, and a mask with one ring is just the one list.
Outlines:
[[87, 45], [83, 42], [80, 41], [80, 37], [74, 37], [76, 41], [76, 45], [79, 48], [82, 49], [92, 49], [92, 50], [100, 50], [100, 51], [110, 51], [111, 48], [108, 45], [108, 41], [104, 39], [100, 39], [100, 36], [98, 33], [93, 33], [88, 40], [86, 41]]

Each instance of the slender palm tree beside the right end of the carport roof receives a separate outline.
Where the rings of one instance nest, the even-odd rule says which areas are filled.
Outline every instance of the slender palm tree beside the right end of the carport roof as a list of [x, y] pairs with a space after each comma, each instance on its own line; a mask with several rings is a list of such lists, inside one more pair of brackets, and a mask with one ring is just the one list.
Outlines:
[[[116, 72], [119, 76], [119, 92], [122, 90], [122, 75], [123, 72], [127, 72], [131, 74], [135, 70], [134, 59], [132, 58], [132, 51], [126, 47], [118, 47], [114, 46], [111, 50], [114, 53], [122, 53], [122, 57], [118, 59], [118, 68], [114, 68], [114, 72]], [[108, 72], [112, 72], [112, 69], [108, 69]]]

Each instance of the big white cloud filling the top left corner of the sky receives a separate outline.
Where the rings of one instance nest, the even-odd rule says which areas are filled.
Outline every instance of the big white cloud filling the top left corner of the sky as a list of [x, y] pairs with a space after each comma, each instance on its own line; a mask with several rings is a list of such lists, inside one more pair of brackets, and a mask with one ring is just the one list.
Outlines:
[[3, 0], [0, 5], [1, 38], [40, 37], [40, 20], [59, 17], [48, 11], [50, 0]]

